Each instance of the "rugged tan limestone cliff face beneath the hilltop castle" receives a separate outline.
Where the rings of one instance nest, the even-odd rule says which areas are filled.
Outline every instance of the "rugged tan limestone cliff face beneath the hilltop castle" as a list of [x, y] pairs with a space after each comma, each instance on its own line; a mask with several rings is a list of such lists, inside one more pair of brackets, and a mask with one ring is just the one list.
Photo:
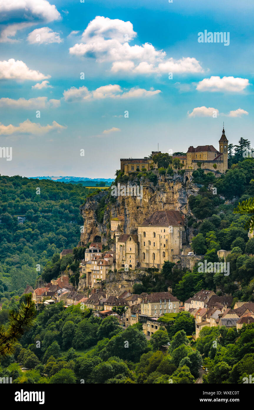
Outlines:
[[[135, 181], [130, 181], [129, 185], [134, 183]], [[139, 183], [143, 186], [142, 199], [137, 196], [118, 196], [115, 202], [111, 203], [107, 191], [87, 198], [86, 203], [80, 207], [84, 219], [84, 232], [81, 233], [80, 246], [100, 239], [103, 244], [106, 244], [110, 231], [110, 218], [116, 216], [124, 216], [125, 233], [134, 233], [133, 229], [137, 229], [137, 226], [155, 211], [177, 210], [187, 216], [188, 198], [190, 195], [196, 195], [199, 190], [199, 187], [191, 184], [186, 187], [183, 178], [178, 174], [166, 178], [160, 175], [156, 185], [144, 178], [141, 178]], [[111, 189], [109, 191], [111, 192]], [[103, 223], [98, 223], [96, 209], [104, 196], [107, 206]]]

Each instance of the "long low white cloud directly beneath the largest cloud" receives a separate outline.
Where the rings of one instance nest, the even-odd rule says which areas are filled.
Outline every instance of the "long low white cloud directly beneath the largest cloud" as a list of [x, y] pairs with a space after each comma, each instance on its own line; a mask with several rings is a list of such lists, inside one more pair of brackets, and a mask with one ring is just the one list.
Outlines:
[[160, 93], [160, 90], [145, 90], [142, 88], [131, 88], [128, 91], [123, 91], [118, 84], [109, 84], [97, 88], [94, 91], [89, 91], [87, 87], [71, 87], [63, 92], [65, 101], [80, 102], [84, 100], [102, 100], [103, 98], [144, 98], [154, 96]]

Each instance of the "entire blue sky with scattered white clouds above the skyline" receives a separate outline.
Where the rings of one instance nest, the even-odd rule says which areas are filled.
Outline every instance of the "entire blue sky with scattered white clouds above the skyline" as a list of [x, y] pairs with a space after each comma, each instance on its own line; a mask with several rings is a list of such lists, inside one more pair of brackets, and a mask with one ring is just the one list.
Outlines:
[[253, 20], [253, 0], [0, 0], [0, 174], [113, 178], [158, 144], [218, 149], [223, 122], [253, 146]]

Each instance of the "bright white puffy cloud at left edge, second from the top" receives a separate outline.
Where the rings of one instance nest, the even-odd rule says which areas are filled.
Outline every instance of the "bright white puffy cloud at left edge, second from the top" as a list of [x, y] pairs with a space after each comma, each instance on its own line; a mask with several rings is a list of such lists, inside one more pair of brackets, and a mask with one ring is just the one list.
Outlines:
[[44, 75], [39, 71], [31, 70], [21, 60], [15, 61], [11, 58], [8, 61], [0, 61], [0, 79], [40, 81], [50, 77], [50, 75]]

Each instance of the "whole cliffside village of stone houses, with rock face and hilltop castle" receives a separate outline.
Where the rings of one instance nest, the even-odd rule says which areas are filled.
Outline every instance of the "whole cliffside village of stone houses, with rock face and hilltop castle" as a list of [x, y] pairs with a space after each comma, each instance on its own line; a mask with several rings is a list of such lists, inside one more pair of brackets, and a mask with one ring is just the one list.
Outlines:
[[[170, 287], [167, 292], [150, 294], [133, 291], [133, 286], [140, 283], [140, 273], [148, 269], [161, 271], [165, 261], [191, 270], [202, 260], [202, 255], [191, 252], [192, 232], [185, 223], [189, 214], [188, 196], [199, 189], [191, 182], [191, 170], [203, 168], [205, 173], [212, 171], [216, 176], [218, 171], [225, 173], [227, 144], [223, 128], [218, 151], [212, 145], [189, 147], [186, 156], [178, 155], [180, 168], [188, 172], [185, 187], [174, 175], [166, 183], [159, 181], [163, 197], [155, 196], [148, 186], [147, 196], [138, 199], [139, 202], [134, 197], [117, 198], [117, 205], [108, 203], [102, 223], [97, 221], [96, 209], [105, 193], [87, 198], [80, 208], [84, 230], [78, 248], [84, 248], [85, 252], [79, 264], [79, 286], [74, 288], [69, 283], [68, 272], [45, 287], [27, 286], [25, 294], [32, 292], [37, 309], [41, 303], [51, 305], [62, 301], [65, 307], [81, 304], [92, 309], [95, 316], [115, 315], [124, 328], [140, 322], [147, 337], [160, 329], [163, 324], [160, 318], [164, 315], [183, 311], [195, 318], [194, 339], [205, 326], [240, 329], [244, 323], [253, 323], [254, 303], [232, 305], [232, 296], [218, 296], [211, 290], [202, 289], [186, 301], [173, 296]], [[159, 153], [152, 152], [150, 159], [121, 159], [121, 172], [130, 177], [145, 169], [158, 175], [153, 157]], [[139, 207], [144, 212], [137, 212]], [[110, 239], [110, 246], [105, 237]], [[60, 257], [72, 252], [72, 249], [64, 249]], [[229, 253], [219, 250], [219, 260], [224, 261]]]

